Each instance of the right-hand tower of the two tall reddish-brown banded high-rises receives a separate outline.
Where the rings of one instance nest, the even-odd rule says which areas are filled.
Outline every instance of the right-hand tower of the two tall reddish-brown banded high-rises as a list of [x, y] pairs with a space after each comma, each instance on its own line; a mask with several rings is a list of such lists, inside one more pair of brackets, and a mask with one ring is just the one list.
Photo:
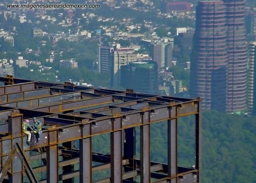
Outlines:
[[226, 111], [246, 109], [247, 45], [245, 0], [223, 0], [226, 6], [228, 78]]

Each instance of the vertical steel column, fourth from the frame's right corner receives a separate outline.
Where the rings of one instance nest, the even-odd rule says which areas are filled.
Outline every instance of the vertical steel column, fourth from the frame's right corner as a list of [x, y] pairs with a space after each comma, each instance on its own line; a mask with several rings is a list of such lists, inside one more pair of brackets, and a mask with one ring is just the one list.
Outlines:
[[122, 119], [112, 119], [113, 131], [110, 133], [111, 183], [122, 182]]

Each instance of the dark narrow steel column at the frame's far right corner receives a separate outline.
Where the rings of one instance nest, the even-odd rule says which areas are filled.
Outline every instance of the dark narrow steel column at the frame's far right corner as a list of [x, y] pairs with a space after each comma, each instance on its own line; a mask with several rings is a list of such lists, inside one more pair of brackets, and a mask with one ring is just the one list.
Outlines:
[[198, 114], [196, 114], [196, 169], [198, 169], [198, 177], [197, 181], [201, 183], [201, 155], [202, 155], [202, 115], [201, 115], [201, 102], [200, 98], [198, 97]]

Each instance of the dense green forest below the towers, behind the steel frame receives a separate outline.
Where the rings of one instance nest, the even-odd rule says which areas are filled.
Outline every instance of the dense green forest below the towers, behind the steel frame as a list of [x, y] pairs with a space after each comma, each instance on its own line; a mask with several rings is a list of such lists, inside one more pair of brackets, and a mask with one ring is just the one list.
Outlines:
[[[256, 121], [244, 117], [205, 111], [202, 117], [202, 182], [254, 183], [256, 177]], [[194, 119], [178, 120], [178, 165], [195, 162]], [[166, 162], [166, 123], [151, 128], [154, 161]]]

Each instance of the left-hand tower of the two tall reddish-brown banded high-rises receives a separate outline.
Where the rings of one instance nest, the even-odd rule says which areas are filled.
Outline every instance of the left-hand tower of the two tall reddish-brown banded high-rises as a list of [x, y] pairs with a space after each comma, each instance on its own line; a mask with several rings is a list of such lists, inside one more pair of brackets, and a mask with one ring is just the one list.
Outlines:
[[226, 110], [228, 54], [225, 9], [222, 1], [201, 1], [196, 7], [190, 95], [201, 97], [203, 109]]

